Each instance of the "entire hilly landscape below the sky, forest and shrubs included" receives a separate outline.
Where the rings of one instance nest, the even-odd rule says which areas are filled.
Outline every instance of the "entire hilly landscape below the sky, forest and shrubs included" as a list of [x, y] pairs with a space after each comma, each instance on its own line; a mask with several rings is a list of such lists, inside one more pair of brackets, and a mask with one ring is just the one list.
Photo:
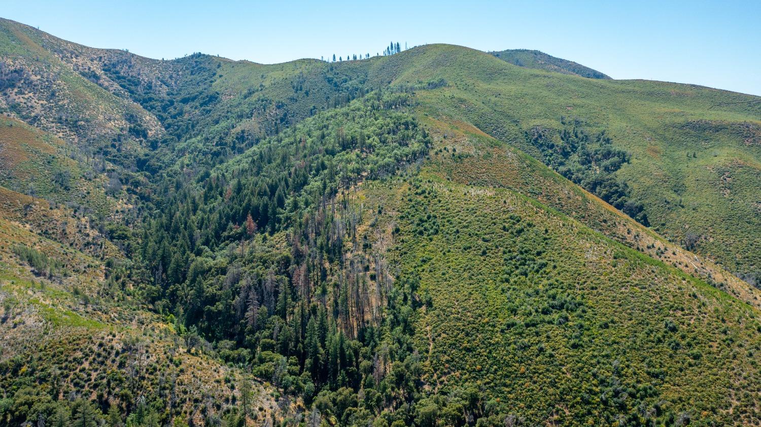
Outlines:
[[0, 52], [0, 425], [761, 425], [759, 97]]

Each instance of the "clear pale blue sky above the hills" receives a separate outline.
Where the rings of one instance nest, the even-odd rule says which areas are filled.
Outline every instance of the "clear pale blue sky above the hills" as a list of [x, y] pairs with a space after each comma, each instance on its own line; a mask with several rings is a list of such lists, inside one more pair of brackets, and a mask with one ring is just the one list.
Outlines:
[[320, 3], [3, 0], [0, 16], [151, 58], [202, 52], [272, 63], [374, 55], [391, 40], [454, 43], [539, 49], [613, 78], [761, 95], [761, 0]]

